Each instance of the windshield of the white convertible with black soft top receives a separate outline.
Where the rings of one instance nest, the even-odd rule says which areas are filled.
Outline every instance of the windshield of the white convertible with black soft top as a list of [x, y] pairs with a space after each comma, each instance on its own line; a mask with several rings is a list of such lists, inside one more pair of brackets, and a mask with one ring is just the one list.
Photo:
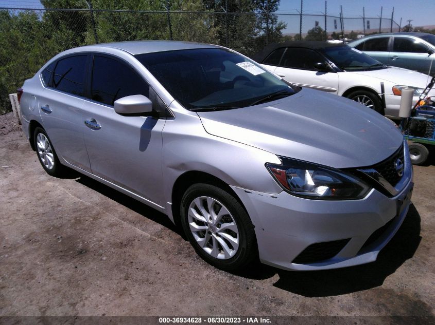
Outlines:
[[326, 47], [320, 51], [342, 70], [371, 70], [385, 67], [371, 56], [349, 46]]

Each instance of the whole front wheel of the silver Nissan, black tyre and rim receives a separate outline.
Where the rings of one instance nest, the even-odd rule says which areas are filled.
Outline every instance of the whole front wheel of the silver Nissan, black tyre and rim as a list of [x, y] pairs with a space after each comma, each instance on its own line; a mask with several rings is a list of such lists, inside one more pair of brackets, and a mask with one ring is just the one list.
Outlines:
[[194, 184], [180, 206], [183, 230], [198, 255], [225, 271], [240, 271], [257, 256], [254, 225], [225, 190]]

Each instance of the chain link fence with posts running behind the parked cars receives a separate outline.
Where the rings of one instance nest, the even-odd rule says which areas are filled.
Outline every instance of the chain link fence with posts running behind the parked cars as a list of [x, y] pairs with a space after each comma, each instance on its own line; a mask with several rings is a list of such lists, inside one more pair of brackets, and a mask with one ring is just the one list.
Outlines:
[[[194, 11], [0, 8], [0, 114], [8, 94], [55, 54], [77, 46], [132, 40], [181, 40], [227, 46], [248, 56], [268, 43], [326, 40], [399, 26], [383, 18]], [[365, 29], [364, 29], [365, 28]], [[343, 30], [343, 32], [342, 32]]]

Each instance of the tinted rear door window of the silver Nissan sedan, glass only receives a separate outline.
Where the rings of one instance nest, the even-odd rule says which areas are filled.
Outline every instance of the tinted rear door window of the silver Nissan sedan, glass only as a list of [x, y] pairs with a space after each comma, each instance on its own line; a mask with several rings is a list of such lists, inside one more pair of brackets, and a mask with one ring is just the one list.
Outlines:
[[53, 87], [84, 97], [86, 58], [86, 55], [77, 55], [59, 60], [54, 71]]

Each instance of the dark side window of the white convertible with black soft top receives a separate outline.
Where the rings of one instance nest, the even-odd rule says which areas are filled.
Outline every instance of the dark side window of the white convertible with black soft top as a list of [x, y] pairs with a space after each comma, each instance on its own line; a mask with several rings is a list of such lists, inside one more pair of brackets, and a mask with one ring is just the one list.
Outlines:
[[283, 59], [282, 67], [314, 70], [314, 65], [325, 62], [325, 59], [316, 51], [299, 47], [288, 47]]

